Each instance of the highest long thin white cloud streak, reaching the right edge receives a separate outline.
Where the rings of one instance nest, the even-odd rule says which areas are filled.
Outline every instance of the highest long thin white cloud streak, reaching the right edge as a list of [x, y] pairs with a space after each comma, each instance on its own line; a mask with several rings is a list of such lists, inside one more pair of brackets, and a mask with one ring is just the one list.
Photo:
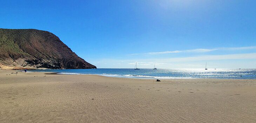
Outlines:
[[[245, 49], [256, 49], [256, 46], [251, 47], [221, 47], [221, 48], [213, 48], [213, 49], [188, 49], [188, 50], [174, 50], [174, 51], [163, 51], [163, 52], [149, 52], [142, 53], [148, 55], [157, 55], [157, 54], [170, 54], [170, 53], [203, 53], [203, 52], [211, 52], [215, 50], [245, 50]], [[128, 54], [128, 55], [140, 55], [139, 53]]]

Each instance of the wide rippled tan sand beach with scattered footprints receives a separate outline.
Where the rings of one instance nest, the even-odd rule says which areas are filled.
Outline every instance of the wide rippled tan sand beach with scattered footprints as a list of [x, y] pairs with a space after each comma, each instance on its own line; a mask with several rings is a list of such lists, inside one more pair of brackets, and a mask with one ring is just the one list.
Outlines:
[[256, 80], [0, 71], [0, 122], [255, 123]]

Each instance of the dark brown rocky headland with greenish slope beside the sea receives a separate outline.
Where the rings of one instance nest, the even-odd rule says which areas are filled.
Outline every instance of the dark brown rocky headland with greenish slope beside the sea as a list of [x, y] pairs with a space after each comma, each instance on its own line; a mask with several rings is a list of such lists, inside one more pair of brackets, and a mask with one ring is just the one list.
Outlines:
[[0, 28], [0, 64], [20, 68], [96, 68], [56, 35], [37, 29]]

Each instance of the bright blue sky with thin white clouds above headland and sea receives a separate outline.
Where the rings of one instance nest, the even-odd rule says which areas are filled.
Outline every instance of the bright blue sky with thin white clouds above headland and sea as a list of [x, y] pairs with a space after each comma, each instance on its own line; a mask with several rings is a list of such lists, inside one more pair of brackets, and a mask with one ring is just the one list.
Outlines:
[[0, 3], [0, 28], [47, 30], [97, 68], [256, 68], [255, 0]]

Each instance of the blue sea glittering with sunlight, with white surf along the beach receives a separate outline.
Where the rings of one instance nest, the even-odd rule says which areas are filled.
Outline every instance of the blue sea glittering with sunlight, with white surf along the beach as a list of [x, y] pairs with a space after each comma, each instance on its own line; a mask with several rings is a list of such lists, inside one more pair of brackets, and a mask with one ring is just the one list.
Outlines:
[[92, 74], [124, 78], [225, 78], [256, 79], [256, 69], [45, 69], [29, 70], [30, 72], [56, 72], [59, 74]]

